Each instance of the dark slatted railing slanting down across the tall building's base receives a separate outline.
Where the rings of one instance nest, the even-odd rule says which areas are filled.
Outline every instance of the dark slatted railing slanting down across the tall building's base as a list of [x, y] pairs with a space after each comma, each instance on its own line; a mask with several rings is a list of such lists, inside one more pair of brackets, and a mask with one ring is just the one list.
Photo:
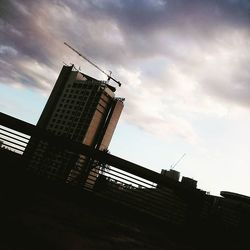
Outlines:
[[[2, 149], [23, 154], [26, 170], [182, 225], [204, 194], [154, 171], [0, 113]], [[84, 166], [84, 167], [83, 167]], [[197, 210], [198, 207], [198, 210]]]

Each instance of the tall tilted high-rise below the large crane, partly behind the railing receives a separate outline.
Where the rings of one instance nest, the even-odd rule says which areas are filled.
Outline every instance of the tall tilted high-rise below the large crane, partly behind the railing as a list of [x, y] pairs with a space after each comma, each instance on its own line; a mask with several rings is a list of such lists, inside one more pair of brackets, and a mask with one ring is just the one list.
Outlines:
[[[114, 92], [108, 82], [85, 75], [74, 66], [63, 66], [37, 127], [106, 151], [123, 109], [124, 99], [116, 98]], [[26, 154], [30, 170], [75, 184], [87, 178], [97, 164], [84, 155], [58, 150], [32, 137]]]

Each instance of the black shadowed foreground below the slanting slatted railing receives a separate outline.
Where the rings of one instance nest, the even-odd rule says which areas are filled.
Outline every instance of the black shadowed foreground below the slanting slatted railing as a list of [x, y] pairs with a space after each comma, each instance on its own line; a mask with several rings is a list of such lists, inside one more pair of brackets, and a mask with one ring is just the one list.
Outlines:
[[177, 228], [77, 187], [23, 171], [19, 156], [1, 159], [0, 249], [250, 249], [240, 232]]

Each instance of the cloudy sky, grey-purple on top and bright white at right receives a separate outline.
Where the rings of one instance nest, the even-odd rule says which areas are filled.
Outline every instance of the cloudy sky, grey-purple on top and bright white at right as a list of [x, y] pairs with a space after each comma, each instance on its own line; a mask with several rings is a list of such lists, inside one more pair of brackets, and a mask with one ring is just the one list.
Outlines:
[[249, 0], [1, 0], [1, 112], [36, 124], [63, 64], [106, 80], [64, 42], [122, 83], [112, 154], [250, 196]]

